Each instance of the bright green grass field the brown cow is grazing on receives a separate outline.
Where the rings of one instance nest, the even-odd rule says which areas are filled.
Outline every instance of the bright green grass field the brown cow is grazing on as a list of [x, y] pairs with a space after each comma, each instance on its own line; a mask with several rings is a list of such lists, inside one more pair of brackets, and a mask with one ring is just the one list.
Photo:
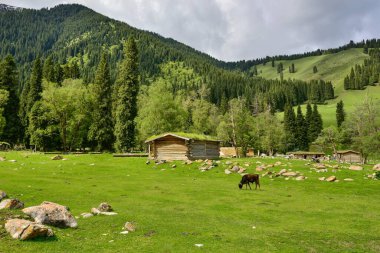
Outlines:
[[[200, 163], [146, 165], [144, 158], [111, 155], [49, 156], [3, 153], [0, 188], [26, 206], [44, 200], [69, 206], [75, 216], [106, 201], [116, 216], [78, 219], [77, 229], [54, 228], [55, 238], [17, 241], [0, 228], [0, 252], [379, 252], [380, 181], [363, 171], [311, 172], [306, 161], [282, 161], [305, 181], [261, 179], [261, 190], [239, 190], [240, 176], [226, 175], [226, 160], [200, 172]], [[371, 172], [372, 173], [372, 172]], [[321, 182], [336, 175], [338, 183]], [[345, 182], [344, 178], [353, 178]], [[0, 211], [4, 217], [17, 211]], [[137, 231], [119, 234], [126, 221]], [[255, 228], [253, 228], [255, 227]], [[195, 244], [203, 244], [198, 248]]]

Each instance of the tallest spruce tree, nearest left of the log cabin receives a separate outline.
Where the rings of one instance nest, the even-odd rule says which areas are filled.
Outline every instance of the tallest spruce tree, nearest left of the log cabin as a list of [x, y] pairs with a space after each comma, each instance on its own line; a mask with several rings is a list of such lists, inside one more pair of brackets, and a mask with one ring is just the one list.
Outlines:
[[124, 60], [120, 64], [115, 83], [115, 148], [125, 152], [135, 145], [137, 93], [139, 90], [138, 51], [133, 38], [124, 47]]

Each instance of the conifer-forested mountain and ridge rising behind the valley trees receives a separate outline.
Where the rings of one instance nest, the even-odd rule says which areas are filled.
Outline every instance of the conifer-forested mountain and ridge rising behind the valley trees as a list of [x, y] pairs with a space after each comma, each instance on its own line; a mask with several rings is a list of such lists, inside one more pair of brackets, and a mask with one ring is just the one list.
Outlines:
[[[174, 71], [178, 71], [178, 66], [182, 66], [189, 70], [183, 73], [192, 74], [181, 77], [181, 81], [177, 77], [172, 78], [172, 85], [175, 86], [173, 90], [185, 89], [188, 92], [189, 89], [196, 90], [206, 84], [210, 90], [210, 102], [217, 105], [232, 98], [245, 97], [248, 105], [255, 107], [256, 111], [261, 111], [268, 105], [281, 111], [287, 102], [294, 105], [307, 100], [324, 103], [334, 98], [332, 84], [297, 76], [297, 72], [294, 77], [301, 80], [287, 79], [287, 75], [266, 75], [265, 71], [253, 75], [252, 68], [261, 70], [259, 65], [268, 63], [268, 66], [270, 61], [303, 59], [314, 55], [324, 58], [326, 55], [334, 55], [349, 48], [379, 42], [352, 42], [337, 49], [251, 61], [223, 62], [173, 39], [139, 30], [78, 4], [58, 5], [41, 10], [13, 7], [4, 9], [7, 11], [0, 12], [0, 58], [7, 54], [14, 56], [19, 67], [19, 92], [29, 78], [32, 62], [38, 56], [43, 60], [51, 56], [54, 62], [62, 66], [75, 63], [80, 68], [81, 78], [89, 83], [94, 80], [102, 51], [106, 50], [109, 52], [111, 78], [114, 80], [118, 63], [122, 58], [123, 43], [129, 36], [133, 36], [140, 52], [142, 84], [149, 84], [152, 79], [162, 75], [161, 69], [164, 64], [176, 62], [180, 64], [171, 65], [175, 66]], [[345, 67], [339, 69], [340, 75], [348, 74], [344, 71], [355, 63], [357, 61], [345, 63]], [[297, 68], [301, 68], [301, 65], [297, 64]], [[195, 75], [196, 84], [189, 88], [189, 83]], [[322, 75], [312, 77], [324, 78]], [[335, 82], [328, 79], [327, 81]]]

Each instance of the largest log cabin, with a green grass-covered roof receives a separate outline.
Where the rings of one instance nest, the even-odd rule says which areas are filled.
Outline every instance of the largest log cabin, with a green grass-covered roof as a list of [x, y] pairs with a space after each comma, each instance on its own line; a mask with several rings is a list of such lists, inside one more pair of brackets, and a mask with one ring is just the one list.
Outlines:
[[220, 141], [207, 135], [165, 133], [145, 141], [149, 158], [157, 160], [218, 159]]

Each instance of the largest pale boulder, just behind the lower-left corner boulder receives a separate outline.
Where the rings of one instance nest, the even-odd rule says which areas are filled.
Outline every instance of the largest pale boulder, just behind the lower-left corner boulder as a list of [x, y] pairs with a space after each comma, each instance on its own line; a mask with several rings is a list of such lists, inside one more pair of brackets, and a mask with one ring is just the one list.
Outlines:
[[77, 221], [69, 212], [69, 208], [53, 202], [44, 201], [39, 206], [27, 207], [22, 211], [37, 223], [62, 228], [76, 228], [78, 226]]

